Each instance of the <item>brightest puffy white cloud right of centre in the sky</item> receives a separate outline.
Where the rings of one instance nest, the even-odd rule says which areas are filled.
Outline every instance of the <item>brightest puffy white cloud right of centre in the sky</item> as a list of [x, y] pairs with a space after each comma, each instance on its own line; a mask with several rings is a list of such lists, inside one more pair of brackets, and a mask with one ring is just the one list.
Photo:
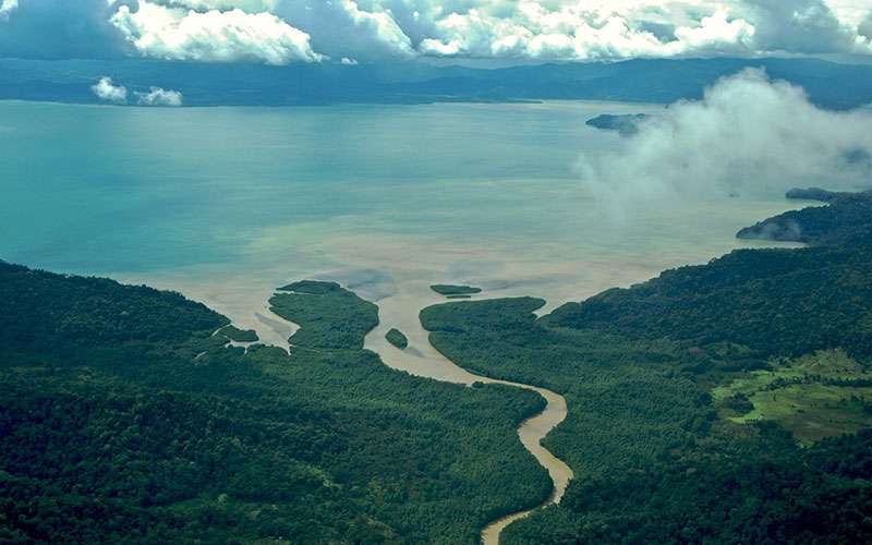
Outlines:
[[[680, 10], [677, 10], [680, 11]], [[674, 57], [701, 52], [747, 50], [753, 26], [720, 8], [693, 19], [682, 11], [674, 17], [671, 36], [651, 32], [651, 15], [638, 7], [605, 4], [591, 8], [568, 2], [556, 9], [521, 0], [507, 12], [472, 9], [450, 13], [435, 22], [438, 37], [422, 40], [426, 55], [476, 57], [528, 57], [556, 59], [621, 59]]]

